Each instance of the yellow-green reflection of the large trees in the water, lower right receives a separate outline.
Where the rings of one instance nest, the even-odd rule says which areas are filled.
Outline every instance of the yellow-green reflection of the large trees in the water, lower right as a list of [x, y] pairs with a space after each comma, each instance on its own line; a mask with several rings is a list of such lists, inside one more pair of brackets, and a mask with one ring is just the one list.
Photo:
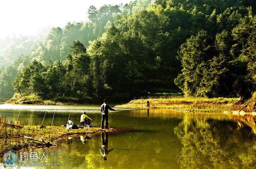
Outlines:
[[256, 135], [243, 121], [195, 118], [186, 114], [175, 128], [175, 134], [183, 144], [177, 155], [181, 168], [256, 166]]

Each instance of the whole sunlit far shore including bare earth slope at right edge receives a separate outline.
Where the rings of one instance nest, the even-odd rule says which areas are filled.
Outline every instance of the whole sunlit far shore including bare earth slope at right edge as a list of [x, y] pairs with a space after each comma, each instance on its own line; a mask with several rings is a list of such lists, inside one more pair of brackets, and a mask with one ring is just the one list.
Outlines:
[[256, 102], [254, 98], [239, 101], [237, 98], [192, 98], [192, 97], [172, 97], [168, 99], [135, 99], [122, 105], [120, 108], [165, 108], [182, 112], [212, 112], [221, 111], [233, 114], [253, 114], [256, 115]]

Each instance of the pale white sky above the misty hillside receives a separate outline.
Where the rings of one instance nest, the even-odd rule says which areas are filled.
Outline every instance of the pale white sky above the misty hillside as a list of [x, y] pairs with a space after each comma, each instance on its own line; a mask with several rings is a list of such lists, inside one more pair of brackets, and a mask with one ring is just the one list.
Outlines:
[[10, 34], [36, 35], [47, 27], [88, 20], [87, 9], [133, 0], [1, 0], [0, 39]]

